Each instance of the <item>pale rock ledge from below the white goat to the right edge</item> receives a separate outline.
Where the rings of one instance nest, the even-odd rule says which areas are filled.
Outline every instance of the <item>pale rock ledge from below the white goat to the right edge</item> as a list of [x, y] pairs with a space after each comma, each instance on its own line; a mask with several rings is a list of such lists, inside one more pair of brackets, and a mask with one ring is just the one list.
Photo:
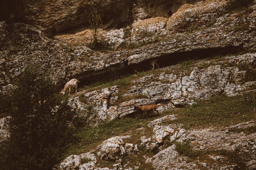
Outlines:
[[[87, 93], [82, 91], [79, 94], [83, 96], [82, 101], [85, 103], [81, 103], [78, 97], [74, 97], [74, 101], [77, 103], [76, 106], [93, 106], [100, 120], [123, 117], [136, 112], [134, 106], [156, 102], [160, 103], [158, 106], [160, 112], [171, 111], [176, 106], [192, 105], [195, 99], [205, 100], [223, 92], [228, 96], [237, 96], [250, 91], [256, 85], [256, 79], [250, 77], [248, 71], [238, 67], [247, 65], [255, 68], [255, 63], [256, 53], [248, 53], [200, 61], [191, 66], [190, 73], [185, 76], [184, 73], [175, 73], [172, 67], [166, 67], [161, 69], [161, 73], [133, 80], [134, 85], [129, 87], [123, 95], [142, 95], [146, 98], [118, 103], [118, 86], [112, 86]], [[208, 67], [208, 65], [211, 66]], [[161, 120], [157, 124], [160, 123]], [[153, 125], [149, 126], [153, 127]]]

